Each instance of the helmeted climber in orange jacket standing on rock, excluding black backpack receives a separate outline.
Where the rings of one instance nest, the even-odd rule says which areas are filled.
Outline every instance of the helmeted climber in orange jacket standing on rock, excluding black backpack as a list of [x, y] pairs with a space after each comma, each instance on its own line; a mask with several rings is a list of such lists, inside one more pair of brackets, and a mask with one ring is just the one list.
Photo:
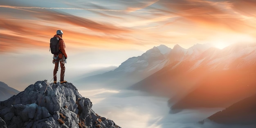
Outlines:
[[67, 81], [64, 81], [64, 75], [65, 75], [65, 63], [67, 59], [67, 54], [65, 51], [65, 43], [62, 39], [63, 32], [61, 30], [57, 30], [56, 35], [54, 37], [58, 38], [59, 47], [58, 49], [60, 52], [58, 54], [54, 54], [52, 63], [55, 64], [53, 75], [54, 75], [54, 83], [57, 83], [57, 72], [58, 72], [58, 63], [61, 64], [61, 83], [67, 83]]

